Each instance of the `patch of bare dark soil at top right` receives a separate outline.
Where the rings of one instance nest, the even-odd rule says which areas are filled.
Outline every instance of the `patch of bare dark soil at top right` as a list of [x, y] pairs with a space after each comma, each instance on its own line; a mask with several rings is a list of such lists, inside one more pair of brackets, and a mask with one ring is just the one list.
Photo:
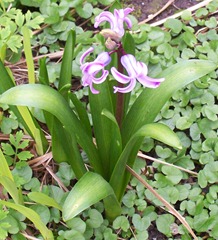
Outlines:
[[[143, 21], [148, 18], [149, 15], [155, 14], [162, 9], [169, 0], [124, 0], [124, 5], [134, 6], [136, 17], [139, 21]], [[176, 12], [187, 9], [199, 1], [196, 0], [174, 0], [167, 9], [155, 17], [151, 22], [158, 21], [173, 15]]]

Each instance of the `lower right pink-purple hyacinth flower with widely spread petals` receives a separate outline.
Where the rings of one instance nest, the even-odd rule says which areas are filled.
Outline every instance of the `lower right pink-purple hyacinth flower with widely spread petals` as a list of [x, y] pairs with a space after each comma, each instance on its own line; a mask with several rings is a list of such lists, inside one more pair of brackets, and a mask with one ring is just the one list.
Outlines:
[[136, 80], [138, 80], [143, 86], [148, 88], [156, 88], [160, 85], [161, 82], [165, 80], [164, 78], [155, 79], [148, 77], [147, 66], [143, 62], [137, 61], [135, 57], [131, 54], [126, 54], [122, 56], [121, 63], [125, 67], [129, 76], [118, 72], [115, 67], [111, 68], [111, 73], [118, 82], [128, 85], [123, 88], [114, 87], [114, 92], [131, 92], [136, 85]]

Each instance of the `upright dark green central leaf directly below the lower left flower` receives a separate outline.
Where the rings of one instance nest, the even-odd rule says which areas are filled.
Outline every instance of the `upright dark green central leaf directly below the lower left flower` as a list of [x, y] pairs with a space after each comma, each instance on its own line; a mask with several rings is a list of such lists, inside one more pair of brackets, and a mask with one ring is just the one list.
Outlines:
[[109, 180], [110, 163], [114, 161], [114, 159], [118, 159], [118, 156], [121, 152], [120, 145], [114, 144], [114, 142], [120, 142], [119, 139], [116, 139], [116, 137], [120, 135], [120, 132], [118, 128], [114, 128], [114, 123], [104, 114], [102, 114], [105, 109], [111, 113], [114, 113], [111, 97], [112, 91], [108, 82], [106, 81], [102, 84], [99, 84], [96, 86], [96, 88], [100, 91], [100, 93], [89, 93], [90, 108], [100, 161], [104, 168], [102, 176]]

